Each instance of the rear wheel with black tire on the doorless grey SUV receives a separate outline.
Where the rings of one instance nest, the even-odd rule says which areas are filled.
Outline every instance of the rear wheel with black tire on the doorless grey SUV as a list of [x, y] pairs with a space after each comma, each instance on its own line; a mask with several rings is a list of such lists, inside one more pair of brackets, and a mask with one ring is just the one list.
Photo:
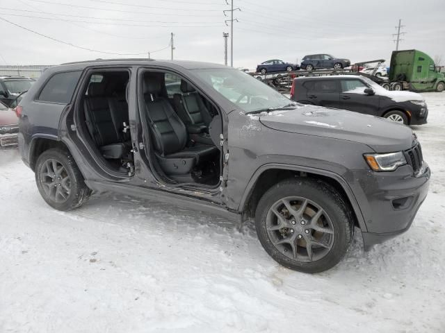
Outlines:
[[[58, 168], [54, 168], [54, 164], [52, 164], [53, 161], [58, 163]], [[53, 170], [60, 170], [62, 167], [64, 168], [63, 171], [61, 171], [63, 173], [63, 176], [61, 176], [63, 177], [62, 180], [60, 180], [61, 177], [56, 177], [56, 173], [53, 173], [52, 178], [51, 176], [48, 176], [51, 172], [48, 169], [49, 167], [47, 163]], [[63, 197], [63, 194], [57, 194], [57, 192], [54, 195], [55, 198], [51, 198], [52, 184], [56, 184], [54, 187], [57, 191], [57, 186], [60, 187], [60, 183], [63, 182], [65, 178], [67, 178], [65, 185], [68, 184], [67, 187], [69, 188], [69, 190], [64, 192], [66, 198]], [[66, 211], [80, 207], [86, 200], [88, 200], [88, 197], [91, 194], [91, 189], [86, 186], [81, 171], [77, 167], [76, 162], [74, 162], [72, 155], [59, 148], [52, 148], [44, 151], [38, 157], [35, 164], [35, 182], [37, 183], [38, 190], [43, 200], [56, 210]], [[51, 182], [51, 185], [48, 185], [49, 182]], [[65, 188], [63, 188], [63, 190], [65, 190]], [[58, 197], [62, 198], [57, 200]]]

